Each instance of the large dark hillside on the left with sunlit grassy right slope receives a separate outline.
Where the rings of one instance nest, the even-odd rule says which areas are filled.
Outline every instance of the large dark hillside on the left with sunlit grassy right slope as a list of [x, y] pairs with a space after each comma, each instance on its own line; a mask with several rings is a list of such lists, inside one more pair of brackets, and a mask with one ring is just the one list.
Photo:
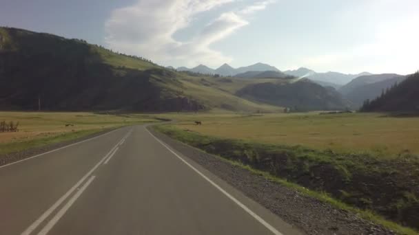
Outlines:
[[50, 111], [276, 110], [195, 79], [82, 40], [0, 27], [2, 110], [37, 110], [39, 100]]

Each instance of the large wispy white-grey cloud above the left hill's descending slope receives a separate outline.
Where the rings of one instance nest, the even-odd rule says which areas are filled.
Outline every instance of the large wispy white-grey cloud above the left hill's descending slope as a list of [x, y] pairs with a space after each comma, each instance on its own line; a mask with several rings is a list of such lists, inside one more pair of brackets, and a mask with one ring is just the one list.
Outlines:
[[126, 54], [151, 58], [163, 65], [210, 66], [232, 58], [210, 45], [247, 25], [245, 15], [265, 9], [272, 1], [258, 1], [238, 12], [225, 12], [190, 41], [176, 41], [173, 34], [190, 26], [196, 15], [236, 0], [142, 0], [112, 12], [105, 23], [108, 47]]

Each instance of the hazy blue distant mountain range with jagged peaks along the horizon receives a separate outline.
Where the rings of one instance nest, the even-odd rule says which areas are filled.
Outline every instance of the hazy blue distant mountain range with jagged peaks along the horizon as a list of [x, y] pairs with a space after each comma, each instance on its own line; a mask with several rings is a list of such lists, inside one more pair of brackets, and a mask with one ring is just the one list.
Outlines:
[[[178, 68], [178, 70], [182, 69], [185, 68]], [[234, 76], [238, 78], [307, 78], [327, 89], [335, 89], [343, 96], [343, 99], [351, 102], [351, 107], [356, 109], [365, 100], [377, 98], [383, 90], [405, 79], [405, 76], [398, 74], [371, 74], [369, 72], [343, 74], [336, 71], [318, 73], [305, 67], [280, 71], [276, 67], [263, 63], [240, 67], [238, 69], [224, 64], [218, 69], [211, 69], [205, 65], [199, 65], [193, 69], [185, 70], [200, 74], [220, 74], [221, 76]], [[244, 72], [238, 73], [238, 71]], [[265, 88], [267, 87], [267, 85], [264, 86]], [[258, 85], [254, 85], [254, 87], [258, 87]], [[283, 103], [285, 104], [285, 102]], [[347, 103], [345, 105], [349, 106]]]

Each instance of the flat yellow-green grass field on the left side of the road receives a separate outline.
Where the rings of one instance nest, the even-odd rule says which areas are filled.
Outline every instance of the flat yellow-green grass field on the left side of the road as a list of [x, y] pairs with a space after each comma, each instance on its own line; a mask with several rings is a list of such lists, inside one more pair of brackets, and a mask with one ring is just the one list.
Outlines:
[[158, 122], [147, 115], [56, 112], [0, 112], [0, 120], [19, 122], [18, 132], [0, 133], [0, 155], [76, 139], [109, 128]]

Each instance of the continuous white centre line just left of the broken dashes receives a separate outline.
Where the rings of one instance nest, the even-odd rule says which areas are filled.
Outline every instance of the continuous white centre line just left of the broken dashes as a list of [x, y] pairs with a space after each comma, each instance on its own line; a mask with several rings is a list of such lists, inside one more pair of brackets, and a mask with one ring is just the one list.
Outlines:
[[21, 235], [29, 235], [34, 230], [36, 230], [37, 227], [45, 219], [47, 219], [48, 216], [50, 216], [50, 214], [52, 214], [52, 212], [54, 212], [54, 210], [56, 210], [59, 207], [59, 205], [61, 205], [61, 203], [63, 203], [63, 201], [65, 201], [65, 199], [67, 199], [70, 196], [70, 194], [72, 194], [72, 192], [74, 192], [74, 190], [76, 190], [76, 188], [78, 188], [81, 185], [81, 183], [83, 183], [83, 181], [85, 181], [86, 178], [88, 178], [90, 175], [92, 175], [92, 172], [94, 172], [94, 170], [96, 170], [96, 168], [98, 168], [103, 163], [103, 161], [105, 161], [105, 159], [110, 155], [110, 153], [112, 153], [112, 151], [119, 145], [120, 142], [121, 141], [119, 141], [118, 144], [116, 144], [108, 152], [108, 154], [105, 155], [105, 157], [103, 157], [92, 169], [90, 169], [90, 171], [86, 175], [84, 175], [72, 188], [70, 188], [70, 190], [68, 190], [68, 192], [66, 192], [62, 197], [60, 197], [60, 199], [58, 199], [58, 201], [56, 203], [54, 203], [54, 205], [52, 205], [50, 208], [48, 208], [48, 210], [43, 212], [43, 214], [39, 217], [39, 219], [34, 221], [34, 223], [32, 223], [25, 231], [23, 231], [21, 233]]

